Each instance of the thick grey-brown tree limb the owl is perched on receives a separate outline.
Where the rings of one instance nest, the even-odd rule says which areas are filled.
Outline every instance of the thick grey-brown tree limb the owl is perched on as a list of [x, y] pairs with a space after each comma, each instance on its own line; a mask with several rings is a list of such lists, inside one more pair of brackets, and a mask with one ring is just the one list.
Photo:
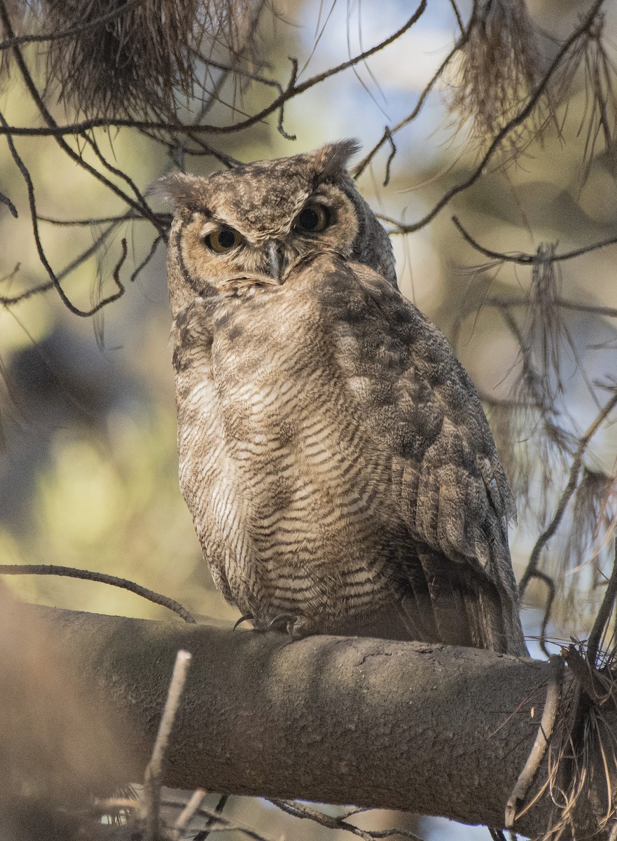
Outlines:
[[[192, 666], [167, 785], [501, 827], [550, 679], [548, 663], [472, 648], [357, 637], [289, 643], [277, 632], [31, 610], [51, 622], [77, 674], [103, 690], [119, 720], [129, 719], [133, 743], [119, 781], [142, 779], [184, 648]], [[614, 732], [617, 715], [607, 706]], [[543, 765], [530, 795], [545, 779]], [[541, 800], [514, 827], [542, 833], [550, 809]]]

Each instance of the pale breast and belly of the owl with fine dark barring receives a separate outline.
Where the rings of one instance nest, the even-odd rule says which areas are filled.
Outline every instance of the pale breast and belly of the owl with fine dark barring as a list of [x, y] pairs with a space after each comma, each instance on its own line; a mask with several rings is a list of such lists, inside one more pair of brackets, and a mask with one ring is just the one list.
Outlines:
[[[392, 598], [388, 562], [403, 553], [390, 458], [337, 367], [331, 314], [302, 291], [214, 312], [200, 422], [211, 468], [188, 466], [183, 486], [208, 522], [206, 554], [223, 547], [232, 600], [270, 618], [378, 607]], [[222, 536], [216, 551], [210, 532]]]

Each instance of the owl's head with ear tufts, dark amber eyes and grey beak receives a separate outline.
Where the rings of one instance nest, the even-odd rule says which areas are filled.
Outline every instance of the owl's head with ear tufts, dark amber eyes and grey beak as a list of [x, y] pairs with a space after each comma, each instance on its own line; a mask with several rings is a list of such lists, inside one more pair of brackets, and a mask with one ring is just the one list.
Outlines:
[[187, 287], [179, 297], [280, 285], [298, 262], [324, 252], [364, 263], [396, 286], [388, 234], [346, 169], [357, 149], [341, 140], [208, 177], [161, 179], [176, 210], [169, 268], [170, 283]]

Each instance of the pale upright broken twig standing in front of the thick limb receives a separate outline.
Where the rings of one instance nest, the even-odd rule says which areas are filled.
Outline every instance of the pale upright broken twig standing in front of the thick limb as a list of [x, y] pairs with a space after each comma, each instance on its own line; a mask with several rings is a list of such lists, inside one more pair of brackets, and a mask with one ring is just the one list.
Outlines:
[[165, 708], [161, 716], [158, 732], [150, 762], [145, 769], [144, 775], [144, 822], [145, 841], [158, 841], [159, 824], [161, 820], [161, 785], [163, 770], [169, 748], [169, 739], [180, 701], [182, 692], [187, 681], [187, 671], [191, 663], [192, 655], [187, 651], [180, 650], [176, 655], [176, 663], [171, 674], [169, 689], [165, 701]]

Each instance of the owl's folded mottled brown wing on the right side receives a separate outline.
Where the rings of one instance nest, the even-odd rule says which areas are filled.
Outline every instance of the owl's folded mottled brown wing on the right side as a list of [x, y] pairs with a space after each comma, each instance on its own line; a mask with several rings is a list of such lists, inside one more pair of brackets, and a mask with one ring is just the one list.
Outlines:
[[393, 514], [417, 553], [403, 609], [414, 621], [428, 596], [443, 642], [526, 654], [508, 548], [514, 502], [476, 389], [419, 309], [367, 267], [353, 272], [343, 312], [354, 317], [343, 315], [339, 331], [363, 360], [349, 381], [364, 423], [392, 453]]

